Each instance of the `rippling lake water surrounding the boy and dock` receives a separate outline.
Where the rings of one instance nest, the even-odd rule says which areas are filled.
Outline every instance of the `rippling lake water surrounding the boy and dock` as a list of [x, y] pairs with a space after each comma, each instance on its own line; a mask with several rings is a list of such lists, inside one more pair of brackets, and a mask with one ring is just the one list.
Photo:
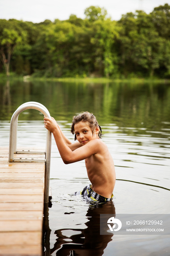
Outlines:
[[[65, 165], [52, 138], [49, 208], [51, 255], [169, 256], [170, 235], [100, 235], [100, 214], [170, 213], [170, 84], [0, 82], [0, 146], [8, 146], [13, 112], [24, 102], [46, 106], [65, 135], [72, 117], [93, 112], [112, 154], [116, 185], [111, 203], [73, 196], [89, 184], [84, 161]], [[45, 147], [43, 115], [19, 115], [18, 146]]]

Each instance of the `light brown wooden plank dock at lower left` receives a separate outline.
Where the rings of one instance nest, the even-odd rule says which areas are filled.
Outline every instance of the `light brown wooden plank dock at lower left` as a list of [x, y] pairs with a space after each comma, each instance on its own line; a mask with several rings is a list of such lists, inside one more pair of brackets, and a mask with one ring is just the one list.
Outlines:
[[[45, 154], [15, 157], [45, 159]], [[42, 255], [44, 183], [45, 163], [8, 162], [8, 149], [0, 148], [1, 256]]]

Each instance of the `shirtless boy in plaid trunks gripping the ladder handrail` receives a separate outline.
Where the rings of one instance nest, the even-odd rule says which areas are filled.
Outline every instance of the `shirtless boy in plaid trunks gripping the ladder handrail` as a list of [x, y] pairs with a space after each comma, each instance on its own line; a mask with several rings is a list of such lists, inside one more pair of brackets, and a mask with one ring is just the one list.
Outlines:
[[89, 200], [107, 202], [111, 200], [115, 186], [115, 167], [106, 144], [100, 139], [101, 128], [96, 117], [89, 112], [82, 112], [73, 117], [71, 132], [75, 134], [75, 143], [61, 131], [53, 117], [44, 118], [45, 128], [53, 133], [59, 154], [65, 164], [85, 159], [87, 174], [91, 185], [86, 186], [81, 194]]

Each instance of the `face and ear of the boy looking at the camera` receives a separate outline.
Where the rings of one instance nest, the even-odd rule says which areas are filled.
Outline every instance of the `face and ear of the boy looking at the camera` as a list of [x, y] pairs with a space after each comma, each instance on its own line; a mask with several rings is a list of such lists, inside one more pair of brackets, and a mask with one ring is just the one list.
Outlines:
[[88, 122], [80, 121], [74, 125], [74, 133], [76, 134], [78, 142], [82, 146], [87, 144], [90, 140], [98, 139], [99, 128], [96, 127], [95, 131], [92, 133]]

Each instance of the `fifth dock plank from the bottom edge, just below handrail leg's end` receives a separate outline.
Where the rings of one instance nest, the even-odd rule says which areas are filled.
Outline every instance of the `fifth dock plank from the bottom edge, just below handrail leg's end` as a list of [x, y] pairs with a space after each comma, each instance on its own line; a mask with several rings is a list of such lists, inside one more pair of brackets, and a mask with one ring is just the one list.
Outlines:
[[0, 203], [0, 211], [41, 211], [42, 203]]

